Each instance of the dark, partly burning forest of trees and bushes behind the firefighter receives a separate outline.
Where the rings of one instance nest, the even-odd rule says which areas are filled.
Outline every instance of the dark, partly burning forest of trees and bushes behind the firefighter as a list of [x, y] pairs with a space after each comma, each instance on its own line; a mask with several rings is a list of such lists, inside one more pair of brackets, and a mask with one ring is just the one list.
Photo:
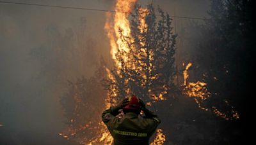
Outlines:
[[[245, 142], [244, 103], [253, 46], [251, 3], [211, 1], [211, 18], [203, 24], [189, 22], [180, 34], [185, 42], [180, 50], [172, 17], [152, 4], [135, 4], [129, 17], [131, 35], [118, 28], [121, 43], [113, 64], [101, 59], [95, 76], [69, 82], [61, 99], [69, 131], [61, 135], [82, 143], [102, 142], [95, 136], [106, 130], [95, 124], [100, 118], [92, 121], [104, 108], [100, 104], [105, 101], [110, 107], [135, 94], [163, 120], [160, 128], [167, 144]], [[179, 60], [177, 52], [182, 55]]]

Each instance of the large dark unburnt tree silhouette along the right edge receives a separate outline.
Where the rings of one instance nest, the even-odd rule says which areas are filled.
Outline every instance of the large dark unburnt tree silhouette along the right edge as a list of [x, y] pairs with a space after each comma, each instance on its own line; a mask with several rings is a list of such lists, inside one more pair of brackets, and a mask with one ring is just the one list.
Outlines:
[[[246, 124], [246, 100], [252, 76], [253, 7], [252, 1], [218, 0], [211, 2], [209, 15], [212, 20], [198, 25], [200, 32], [195, 54], [198, 70], [202, 71], [211, 98], [204, 106], [218, 108], [227, 118], [232, 111], [239, 113], [239, 120], [221, 121], [216, 141], [218, 144], [244, 142], [242, 125]], [[217, 119], [215, 119], [217, 120]], [[220, 121], [220, 120], [218, 120]], [[222, 127], [222, 128], [221, 128]]]

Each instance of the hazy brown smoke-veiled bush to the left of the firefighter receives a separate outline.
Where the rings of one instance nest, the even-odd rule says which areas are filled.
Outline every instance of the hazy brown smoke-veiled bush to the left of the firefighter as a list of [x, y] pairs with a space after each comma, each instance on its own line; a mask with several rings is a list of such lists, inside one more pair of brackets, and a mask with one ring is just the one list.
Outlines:
[[97, 115], [102, 113], [107, 95], [101, 82], [106, 77], [105, 70], [106, 62], [101, 58], [94, 76], [68, 81], [67, 92], [60, 100], [68, 125], [63, 134], [68, 135], [68, 138], [72, 137], [78, 142], [89, 141], [97, 134], [95, 127], [99, 127], [97, 123], [101, 121]]

